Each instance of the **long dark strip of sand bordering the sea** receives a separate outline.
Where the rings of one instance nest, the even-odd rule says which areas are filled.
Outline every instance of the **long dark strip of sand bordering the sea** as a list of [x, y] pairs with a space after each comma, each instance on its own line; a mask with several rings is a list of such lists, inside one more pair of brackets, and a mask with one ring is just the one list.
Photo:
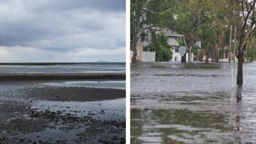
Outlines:
[[124, 72], [111, 73], [12, 73], [0, 74], [0, 81], [125, 80]]

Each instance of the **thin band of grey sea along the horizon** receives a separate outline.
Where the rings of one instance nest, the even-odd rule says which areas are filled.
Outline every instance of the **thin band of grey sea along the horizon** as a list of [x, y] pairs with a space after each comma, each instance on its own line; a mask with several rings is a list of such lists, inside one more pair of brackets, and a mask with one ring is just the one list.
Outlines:
[[0, 74], [125, 73], [125, 62], [0, 63]]

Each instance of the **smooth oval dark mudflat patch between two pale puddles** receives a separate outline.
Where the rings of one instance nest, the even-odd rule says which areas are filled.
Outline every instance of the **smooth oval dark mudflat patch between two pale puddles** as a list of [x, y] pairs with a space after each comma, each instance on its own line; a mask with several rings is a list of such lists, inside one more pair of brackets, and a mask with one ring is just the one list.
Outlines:
[[[124, 98], [124, 90], [83, 88], [83, 87], [46, 87], [24, 90], [24, 95], [35, 99], [57, 101], [95, 101]], [[70, 97], [71, 96], [71, 97]]]

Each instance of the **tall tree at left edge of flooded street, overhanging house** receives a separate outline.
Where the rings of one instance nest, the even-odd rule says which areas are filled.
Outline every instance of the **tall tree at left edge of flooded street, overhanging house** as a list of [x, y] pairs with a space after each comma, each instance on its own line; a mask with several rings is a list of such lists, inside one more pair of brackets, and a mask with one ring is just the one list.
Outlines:
[[[154, 33], [153, 28], [172, 25], [172, 0], [131, 0], [131, 50], [136, 61], [136, 44]], [[148, 39], [147, 39], [148, 40]]]

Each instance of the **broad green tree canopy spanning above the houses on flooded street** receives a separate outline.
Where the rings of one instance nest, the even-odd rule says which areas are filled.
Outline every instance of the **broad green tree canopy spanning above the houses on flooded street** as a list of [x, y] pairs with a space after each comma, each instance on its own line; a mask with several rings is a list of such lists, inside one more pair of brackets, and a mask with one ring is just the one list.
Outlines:
[[[222, 49], [229, 44], [230, 25], [233, 35], [234, 26], [237, 26], [236, 39], [239, 40], [243, 24], [240, 9], [241, 5], [231, 0], [131, 0], [131, 40], [134, 42], [137, 37], [147, 40], [148, 33], [154, 35], [152, 28], [169, 28], [185, 36], [186, 44], [193, 47], [196, 56], [196, 40], [202, 42], [205, 52], [211, 51], [214, 45], [220, 45]], [[145, 29], [145, 26], [150, 28]], [[180, 39], [179, 44], [184, 45], [182, 41]], [[134, 47], [136, 43], [132, 44]], [[223, 56], [221, 49], [220, 58]], [[250, 53], [251, 50], [247, 51]], [[158, 61], [163, 61], [164, 54], [158, 54]]]

